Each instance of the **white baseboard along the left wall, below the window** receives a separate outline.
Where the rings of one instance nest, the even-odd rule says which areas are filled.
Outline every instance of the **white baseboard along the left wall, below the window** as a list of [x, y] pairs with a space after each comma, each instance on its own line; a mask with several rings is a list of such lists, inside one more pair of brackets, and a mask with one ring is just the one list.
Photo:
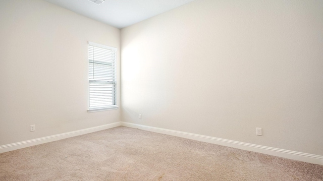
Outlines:
[[84, 135], [84, 134], [97, 132], [97, 131], [101, 131], [101, 130], [106, 130], [109, 128], [114, 128], [114, 127], [119, 127], [119, 126], [121, 126], [121, 122], [101, 125], [101, 126], [92, 127], [92, 128], [86, 128], [83, 130], [77, 130], [77, 131], [62, 133], [62, 134], [58, 134], [58, 135], [37, 138], [37, 139], [33, 139], [33, 140], [22, 141], [22, 142], [18, 142], [18, 143], [12, 143], [12, 144], [8, 144], [8, 145], [2, 145], [2, 146], [0, 146], [0, 153], [13, 151], [13, 150], [21, 149], [21, 148], [26, 148], [29, 146], [39, 145], [39, 144], [43, 144], [43, 143], [48, 143], [48, 142], [52, 142], [52, 141], [62, 140], [65, 138], [75, 137], [75, 136]]

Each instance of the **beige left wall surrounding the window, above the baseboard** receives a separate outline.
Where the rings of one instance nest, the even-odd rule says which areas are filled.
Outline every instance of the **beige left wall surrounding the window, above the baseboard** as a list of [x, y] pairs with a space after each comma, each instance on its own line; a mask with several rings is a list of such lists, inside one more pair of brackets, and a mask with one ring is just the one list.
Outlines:
[[120, 67], [119, 29], [38, 0], [0, 1], [0, 26], [0, 145], [120, 121], [87, 113], [87, 41], [117, 47]]

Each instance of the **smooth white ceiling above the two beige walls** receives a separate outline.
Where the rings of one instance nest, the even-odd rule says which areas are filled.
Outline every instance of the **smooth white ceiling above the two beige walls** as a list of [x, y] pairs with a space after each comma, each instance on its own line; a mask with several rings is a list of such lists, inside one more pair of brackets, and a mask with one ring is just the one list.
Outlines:
[[88, 0], [44, 0], [80, 15], [124, 28], [194, 0], [105, 0], [96, 5]]

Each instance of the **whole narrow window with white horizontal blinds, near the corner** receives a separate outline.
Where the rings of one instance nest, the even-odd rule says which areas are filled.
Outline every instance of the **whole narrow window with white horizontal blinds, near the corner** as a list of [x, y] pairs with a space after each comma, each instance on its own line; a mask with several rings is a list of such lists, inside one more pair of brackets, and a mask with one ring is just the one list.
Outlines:
[[117, 109], [116, 52], [117, 48], [93, 42], [89, 51], [89, 110]]

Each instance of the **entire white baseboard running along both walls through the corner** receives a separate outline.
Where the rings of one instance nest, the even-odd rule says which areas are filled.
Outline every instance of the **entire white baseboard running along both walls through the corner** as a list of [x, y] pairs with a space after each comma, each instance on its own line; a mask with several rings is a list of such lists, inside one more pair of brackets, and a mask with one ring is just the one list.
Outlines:
[[112, 124], [101, 125], [101, 126], [97, 126], [97, 127], [83, 129], [83, 130], [77, 130], [77, 131], [73, 131], [73, 132], [42, 137], [42, 138], [37, 138], [37, 139], [33, 139], [33, 140], [12, 143], [12, 144], [8, 144], [8, 145], [2, 145], [2, 146], [0, 146], [0, 153], [13, 151], [13, 150], [21, 149], [21, 148], [26, 148], [29, 146], [39, 145], [39, 144], [43, 144], [43, 143], [48, 143], [48, 142], [52, 142], [52, 141], [62, 140], [65, 138], [75, 137], [75, 136], [84, 135], [84, 134], [88, 134], [88, 133], [93, 133], [93, 132], [97, 132], [97, 131], [101, 131], [101, 130], [106, 130], [109, 128], [118, 127], [118, 126], [137, 128], [140, 130], [146, 130], [146, 131], [151, 131], [151, 132], [155, 132], [155, 133], [172, 135], [172, 136], [187, 138], [187, 139], [191, 139], [191, 140], [202, 141], [202, 142], [206, 142], [206, 143], [223, 145], [223, 146], [228, 146], [228, 147], [232, 147], [232, 148], [238, 148], [238, 149], [242, 149], [242, 150], [254, 151], [254, 152], [258, 152], [258, 153], [264, 153], [264, 154], [268, 154], [268, 155], [279, 156], [279, 157], [283, 157], [283, 158], [323, 165], [323, 156], [321, 156], [321, 155], [314, 155], [314, 154], [284, 150], [284, 149], [279, 149], [279, 148], [255, 145], [255, 144], [250, 144], [250, 143], [243, 143], [243, 142], [238, 142], [238, 141], [226, 140], [226, 139], [222, 139], [222, 138], [215, 138], [215, 137], [210, 137], [210, 136], [204, 136], [204, 135], [198, 135], [198, 134], [192, 134], [192, 133], [168, 130], [168, 129], [163, 129], [163, 128], [156, 128], [156, 127], [150, 127], [150, 126], [145, 126], [145, 125], [126, 123], [126, 122], [116, 122], [116, 123], [112, 123]]

